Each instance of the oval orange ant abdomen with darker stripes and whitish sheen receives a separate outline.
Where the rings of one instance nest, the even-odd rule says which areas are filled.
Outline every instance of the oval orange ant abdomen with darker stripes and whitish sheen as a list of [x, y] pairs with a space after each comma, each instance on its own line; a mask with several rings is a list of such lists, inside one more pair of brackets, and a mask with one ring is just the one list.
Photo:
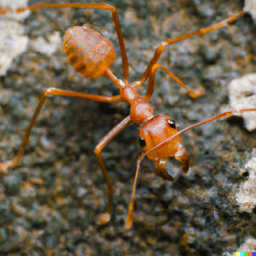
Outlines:
[[115, 60], [113, 45], [100, 33], [81, 26], [67, 29], [64, 51], [70, 65], [84, 77], [103, 76]]

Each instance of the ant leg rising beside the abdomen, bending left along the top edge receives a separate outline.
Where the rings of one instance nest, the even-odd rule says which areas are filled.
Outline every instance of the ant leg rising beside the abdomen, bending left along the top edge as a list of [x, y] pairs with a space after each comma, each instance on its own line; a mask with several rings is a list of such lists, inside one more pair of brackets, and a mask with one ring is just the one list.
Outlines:
[[[25, 10], [36, 10], [36, 9], [42, 9], [42, 8], [94, 8], [94, 9], [103, 9], [108, 10], [112, 13], [112, 19], [115, 25], [116, 34], [118, 37], [119, 47], [122, 55], [122, 62], [123, 62], [123, 70], [124, 70], [124, 83], [128, 84], [129, 79], [129, 63], [125, 51], [124, 46], [124, 37], [122, 34], [120, 21], [118, 17], [118, 13], [116, 12], [116, 8], [109, 5], [109, 4], [90, 4], [90, 3], [68, 3], [68, 4], [44, 4], [44, 5], [31, 5], [26, 8], [19, 8], [15, 12], [24, 12]], [[10, 9], [4, 9], [0, 6], [0, 15], [5, 14], [8, 12], [13, 12], [13, 10]]]

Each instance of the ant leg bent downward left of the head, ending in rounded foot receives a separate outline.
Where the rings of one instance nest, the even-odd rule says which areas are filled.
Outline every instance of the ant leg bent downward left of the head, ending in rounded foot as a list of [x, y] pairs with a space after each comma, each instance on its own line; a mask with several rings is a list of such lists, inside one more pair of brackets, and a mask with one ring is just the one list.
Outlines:
[[99, 219], [97, 220], [97, 223], [99, 225], [105, 225], [108, 223], [108, 221], [111, 218], [111, 212], [113, 209], [113, 193], [114, 188], [111, 183], [111, 180], [109, 179], [108, 171], [106, 170], [105, 164], [103, 162], [102, 156], [100, 152], [102, 149], [107, 145], [107, 143], [112, 140], [119, 132], [123, 131], [125, 127], [127, 127], [129, 124], [131, 124], [131, 117], [127, 116], [122, 120], [119, 124], [117, 124], [111, 131], [109, 131], [98, 143], [98, 145], [95, 147], [94, 153], [97, 156], [97, 161], [99, 163], [100, 169], [102, 170], [102, 173], [104, 175], [106, 184], [108, 186], [108, 193], [109, 193], [109, 200], [108, 200], [108, 206], [107, 206], [107, 212], [100, 214]]

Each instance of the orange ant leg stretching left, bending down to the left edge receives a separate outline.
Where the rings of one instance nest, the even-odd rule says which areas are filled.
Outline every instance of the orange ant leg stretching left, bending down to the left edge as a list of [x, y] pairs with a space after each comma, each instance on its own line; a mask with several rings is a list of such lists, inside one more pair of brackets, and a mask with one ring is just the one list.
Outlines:
[[95, 100], [95, 101], [99, 101], [99, 102], [116, 102], [116, 101], [120, 101], [120, 99], [121, 99], [120, 95], [117, 95], [117, 96], [102, 96], [102, 95], [93, 95], [93, 94], [88, 94], [88, 93], [60, 90], [60, 89], [55, 89], [55, 88], [48, 88], [45, 91], [44, 95], [41, 97], [41, 99], [40, 99], [40, 101], [39, 101], [39, 103], [36, 107], [35, 113], [31, 118], [28, 130], [26, 131], [26, 134], [25, 134], [24, 139], [22, 141], [22, 145], [20, 147], [20, 151], [19, 151], [18, 155], [12, 161], [7, 161], [5, 163], [0, 163], [0, 172], [6, 173], [8, 168], [10, 168], [12, 166], [15, 166], [17, 163], [19, 163], [21, 157], [24, 154], [26, 145], [28, 145], [31, 129], [32, 129], [33, 125], [35, 124], [36, 118], [37, 118], [38, 114], [40, 113], [40, 110], [42, 109], [42, 106], [44, 105], [45, 99], [49, 96], [52, 96], [52, 95], [77, 97], [77, 98]]

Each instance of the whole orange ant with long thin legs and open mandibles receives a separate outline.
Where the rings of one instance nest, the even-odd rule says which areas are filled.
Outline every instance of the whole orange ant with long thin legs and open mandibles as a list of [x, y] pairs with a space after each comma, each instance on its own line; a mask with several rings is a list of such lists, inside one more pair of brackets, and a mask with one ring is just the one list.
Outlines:
[[[118, 18], [118, 13], [116, 12], [116, 8], [110, 6], [108, 4], [78, 4], [78, 3], [68, 3], [68, 4], [47, 4], [47, 5], [38, 5], [38, 6], [28, 6], [27, 8], [20, 8], [16, 10], [17, 13], [23, 12], [25, 10], [34, 10], [40, 8], [95, 8], [95, 9], [103, 9], [108, 10], [112, 13], [113, 22], [115, 24], [116, 33], [118, 36], [118, 42], [120, 46], [120, 51], [122, 55], [122, 63], [124, 70], [124, 81], [118, 79], [115, 74], [110, 70], [110, 66], [115, 60], [115, 51], [113, 49], [113, 45], [100, 35], [98, 32], [93, 31], [92, 29], [88, 29], [82, 26], [75, 26], [73, 28], [67, 29], [64, 36], [64, 51], [67, 55], [67, 59], [70, 65], [76, 70], [79, 74], [84, 77], [97, 78], [100, 76], [108, 77], [120, 90], [120, 95], [116, 96], [104, 96], [104, 95], [92, 95], [88, 93], [81, 92], [72, 92], [68, 90], [60, 90], [56, 88], [47, 88], [45, 90], [44, 95], [41, 97], [38, 106], [36, 107], [35, 113], [31, 118], [31, 122], [29, 124], [28, 130], [24, 136], [24, 140], [22, 141], [22, 145], [20, 147], [20, 151], [17, 156], [12, 161], [7, 161], [5, 163], [0, 163], [0, 172], [6, 173], [8, 168], [15, 166], [15, 164], [19, 163], [20, 158], [24, 154], [24, 150], [26, 145], [28, 145], [29, 136], [31, 133], [31, 129], [35, 124], [36, 118], [40, 113], [42, 106], [44, 105], [45, 99], [52, 95], [61, 95], [68, 97], [78, 97], [83, 99], [95, 100], [99, 102], [125, 102], [131, 105], [130, 115], [124, 118], [119, 124], [117, 124], [111, 131], [109, 131], [98, 143], [95, 147], [95, 154], [97, 156], [97, 161], [99, 163], [100, 169], [104, 175], [106, 180], [106, 184], [108, 186], [108, 205], [107, 211], [104, 214], [100, 214], [99, 220], [97, 223], [99, 225], [104, 225], [108, 223], [111, 218], [111, 212], [113, 208], [113, 193], [114, 188], [109, 179], [108, 172], [104, 165], [101, 151], [106, 146], [106, 144], [113, 139], [117, 134], [125, 129], [132, 122], [140, 125], [139, 131], [139, 143], [141, 150], [144, 152], [141, 156], [138, 157], [137, 161], [137, 170], [136, 176], [134, 179], [134, 185], [132, 188], [132, 196], [131, 202], [129, 205], [129, 213], [127, 216], [127, 220], [125, 223], [125, 227], [129, 228], [132, 224], [132, 209], [133, 209], [133, 200], [136, 191], [136, 182], [138, 179], [138, 172], [140, 168], [141, 160], [147, 156], [150, 160], [156, 163], [156, 174], [162, 177], [164, 180], [173, 181], [173, 177], [166, 172], [166, 159], [168, 157], [175, 157], [178, 161], [182, 163], [182, 170], [184, 173], [188, 173], [190, 166], [190, 158], [188, 152], [182, 145], [180, 134], [186, 132], [194, 127], [205, 124], [207, 122], [211, 122], [212, 120], [216, 120], [218, 118], [223, 118], [225, 116], [236, 115], [237, 113], [241, 113], [244, 111], [256, 111], [255, 108], [252, 109], [239, 109], [235, 111], [229, 111], [218, 116], [214, 116], [208, 120], [200, 122], [195, 125], [191, 125], [179, 131], [179, 128], [175, 124], [175, 121], [170, 116], [161, 114], [154, 116], [153, 108], [148, 103], [148, 101], [152, 98], [154, 93], [154, 84], [155, 84], [155, 76], [156, 70], [161, 68], [166, 72], [170, 77], [172, 77], [180, 86], [185, 88], [189, 95], [193, 98], [196, 98], [202, 95], [203, 90], [190, 90], [178, 77], [173, 75], [167, 68], [159, 65], [157, 60], [159, 60], [162, 52], [164, 51], [167, 45], [173, 44], [180, 40], [184, 40], [191, 36], [195, 35], [204, 35], [209, 33], [214, 29], [218, 29], [221, 26], [234, 22], [237, 17], [243, 15], [244, 11], [236, 13], [236, 15], [229, 17], [226, 20], [219, 22], [213, 26], [209, 26], [204, 29], [200, 29], [193, 33], [188, 33], [185, 35], [177, 36], [175, 38], [170, 38], [161, 42], [161, 44], [157, 47], [153, 58], [150, 60], [148, 67], [146, 68], [143, 75], [140, 79], [134, 83], [129, 84], [129, 64], [125, 52], [124, 46], [124, 38], [122, 35], [122, 31], [120, 28], [120, 22]], [[9, 9], [0, 9], [0, 13], [4, 14], [7, 12], [12, 12]], [[148, 79], [147, 92], [144, 96], [141, 96], [137, 93], [136, 89], [142, 86]]]

